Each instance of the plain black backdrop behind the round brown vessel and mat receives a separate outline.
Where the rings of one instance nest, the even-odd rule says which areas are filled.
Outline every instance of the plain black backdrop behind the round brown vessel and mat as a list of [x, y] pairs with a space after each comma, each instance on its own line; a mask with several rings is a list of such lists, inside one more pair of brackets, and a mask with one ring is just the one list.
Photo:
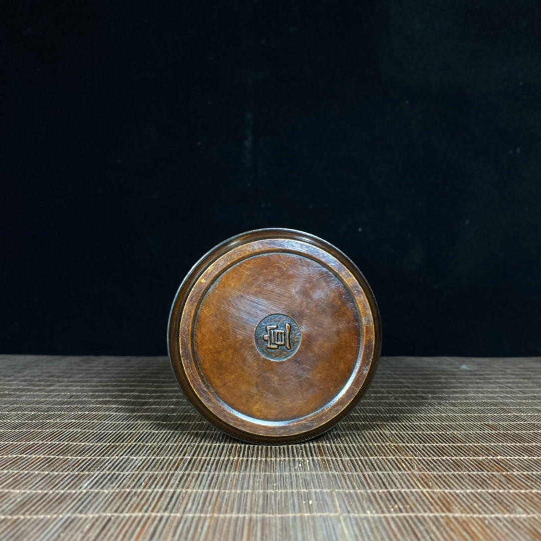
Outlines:
[[384, 354], [541, 354], [539, 6], [17, 3], [0, 350], [164, 354], [192, 264], [277, 226], [357, 263]]

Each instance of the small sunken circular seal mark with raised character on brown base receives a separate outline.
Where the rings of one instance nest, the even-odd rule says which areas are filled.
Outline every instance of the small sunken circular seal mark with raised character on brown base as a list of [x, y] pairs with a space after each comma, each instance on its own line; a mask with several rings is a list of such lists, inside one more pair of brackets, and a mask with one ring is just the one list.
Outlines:
[[255, 346], [263, 357], [273, 361], [284, 361], [299, 349], [301, 331], [289, 316], [271, 314], [259, 322], [254, 338]]

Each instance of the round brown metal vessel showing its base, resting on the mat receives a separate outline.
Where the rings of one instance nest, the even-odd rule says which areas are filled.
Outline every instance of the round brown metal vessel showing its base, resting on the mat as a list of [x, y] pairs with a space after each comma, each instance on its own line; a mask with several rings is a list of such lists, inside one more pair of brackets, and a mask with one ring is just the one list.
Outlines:
[[188, 400], [236, 438], [283, 443], [331, 428], [375, 371], [374, 295], [337, 248], [290, 229], [204, 255], [173, 301], [168, 346]]

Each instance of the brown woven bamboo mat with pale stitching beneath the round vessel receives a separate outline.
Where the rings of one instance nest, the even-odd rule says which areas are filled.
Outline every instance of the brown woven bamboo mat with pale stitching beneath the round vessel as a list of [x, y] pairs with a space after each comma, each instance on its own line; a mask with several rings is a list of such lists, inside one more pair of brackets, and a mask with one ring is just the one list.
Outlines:
[[347, 419], [239, 443], [164, 358], [0, 357], [0, 539], [541, 539], [541, 359], [384, 358]]

